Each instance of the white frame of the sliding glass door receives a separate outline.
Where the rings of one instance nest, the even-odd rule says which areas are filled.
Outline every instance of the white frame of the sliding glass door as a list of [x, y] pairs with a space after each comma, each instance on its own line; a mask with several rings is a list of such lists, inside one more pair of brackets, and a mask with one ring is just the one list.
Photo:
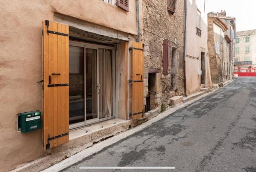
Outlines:
[[[86, 57], [86, 48], [92, 48], [97, 50], [97, 118], [94, 119], [89, 119], [86, 120], [86, 59], [84, 59], [84, 121], [82, 122], [77, 122], [76, 124], [71, 124], [70, 129], [90, 125], [96, 122], [100, 122], [103, 120], [108, 120], [115, 118], [116, 111], [115, 111], [115, 106], [116, 106], [116, 52], [115, 52], [115, 47], [112, 46], [105, 46], [105, 45], [100, 45], [100, 44], [92, 44], [92, 43], [86, 43], [86, 42], [78, 42], [78, 41], [69, 41], [70, 46], [78, 46], [78, 47], [83, 47], [84, 48], [84, 58]], [[103, 49], [108, 49], [112, 50], [112, 116], [111, 117], [105, 117], [99, 119], [99, 48]]]

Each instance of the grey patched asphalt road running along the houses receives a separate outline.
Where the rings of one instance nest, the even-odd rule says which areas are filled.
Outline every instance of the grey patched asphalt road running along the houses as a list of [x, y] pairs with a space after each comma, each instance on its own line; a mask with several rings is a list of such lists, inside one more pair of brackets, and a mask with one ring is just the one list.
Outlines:
[[[79, 169], [172, 166], [176, 169]], [[256, 172], [256, 77], [239, 78], [63, 171]]]

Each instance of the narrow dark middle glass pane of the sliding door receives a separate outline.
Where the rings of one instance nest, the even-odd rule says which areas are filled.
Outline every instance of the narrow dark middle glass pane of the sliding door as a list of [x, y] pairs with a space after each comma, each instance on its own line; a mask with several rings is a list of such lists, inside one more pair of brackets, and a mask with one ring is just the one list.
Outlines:
[[97, 50], [86, 48], [86, 120], [98, 118], [97, 78]]

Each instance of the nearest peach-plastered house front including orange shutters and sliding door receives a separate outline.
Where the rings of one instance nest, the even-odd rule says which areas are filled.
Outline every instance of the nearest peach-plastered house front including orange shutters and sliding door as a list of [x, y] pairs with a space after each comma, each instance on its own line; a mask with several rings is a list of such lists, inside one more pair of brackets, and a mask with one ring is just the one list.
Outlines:
[[[142, 1], [1, 1], [0, 16], [0, 171], [70, 156], [76, 128], [142, 116]], [[35, 110], [42, 129], [20, 132]]]

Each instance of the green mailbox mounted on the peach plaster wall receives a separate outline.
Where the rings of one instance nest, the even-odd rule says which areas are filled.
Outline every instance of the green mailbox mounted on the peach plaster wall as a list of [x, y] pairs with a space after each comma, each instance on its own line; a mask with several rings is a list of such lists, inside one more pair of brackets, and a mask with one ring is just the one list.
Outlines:
[[41, 129], [41, 112], [20, 113], [20, 130], [22, 133]]

